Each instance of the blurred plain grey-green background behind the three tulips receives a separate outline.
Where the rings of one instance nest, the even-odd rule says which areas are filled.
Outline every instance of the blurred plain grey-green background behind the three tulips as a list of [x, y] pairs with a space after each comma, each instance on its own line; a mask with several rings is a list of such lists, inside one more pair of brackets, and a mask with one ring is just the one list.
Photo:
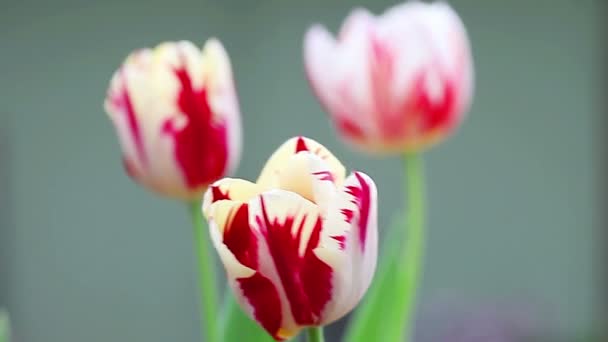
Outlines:
[[[459, 132], [426, 154], [416, 342], [591, 341], [606, 323], [604, 1], [450, 3], [472, 40], [476, 93]], [[0, 307], [15, 341], [199, 340], [186, 208], [129, 180], [102, 108], [135, 48], [219, 37], [245, 127], [237, 176], [256, 177], [291, 136], [315, 138], [376, 180], [385, 228], [401, 208], [400, 161], [336, 137], [301, 44], [313, 22], [335, 31], [354, 6], [393, 4], [0, 0]]]

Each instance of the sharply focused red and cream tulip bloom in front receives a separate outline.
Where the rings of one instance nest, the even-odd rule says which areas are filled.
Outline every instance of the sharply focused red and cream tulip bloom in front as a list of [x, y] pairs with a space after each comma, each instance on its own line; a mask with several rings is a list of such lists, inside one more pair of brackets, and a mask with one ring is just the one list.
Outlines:
[[203, 213], [245, 312], [276, 340], [347, 314], [370, 285], [377, 256], [372, 179], [319, 143], [296, 137], [256, 183], [224, 178]]

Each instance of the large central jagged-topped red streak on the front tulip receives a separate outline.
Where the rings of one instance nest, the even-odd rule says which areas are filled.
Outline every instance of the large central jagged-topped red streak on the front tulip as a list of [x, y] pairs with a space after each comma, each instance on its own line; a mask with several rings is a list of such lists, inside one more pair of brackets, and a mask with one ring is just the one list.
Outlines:
[[263, 197], [260, 201], [262, 217], [258, 216], [256, 220], [265, 235], [294, 320], [300, 325], [318, 324], [321, 312], [331, 298], [332, 275], [332, 269], [313, 253], [319, 245], [321, 218], [316, 218], [304, 254], [300, 255], [298, 250], [305, 220], [297, 227], [296, 234], [292, 234], [294, 217], [285, 218], [285, 222], [279, 222], [277, 218], [270, 220]]

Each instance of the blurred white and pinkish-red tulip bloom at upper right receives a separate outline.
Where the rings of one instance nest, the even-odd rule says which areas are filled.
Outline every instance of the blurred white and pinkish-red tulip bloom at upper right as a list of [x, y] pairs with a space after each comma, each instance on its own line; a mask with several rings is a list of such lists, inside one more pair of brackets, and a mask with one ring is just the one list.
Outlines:
[[309, 83], [341, 135], [370, 152], [415, 152], [462, 121], [473, 88], [469, 40], [446, 3], [354, 10], [337, 38], [304, 39]]

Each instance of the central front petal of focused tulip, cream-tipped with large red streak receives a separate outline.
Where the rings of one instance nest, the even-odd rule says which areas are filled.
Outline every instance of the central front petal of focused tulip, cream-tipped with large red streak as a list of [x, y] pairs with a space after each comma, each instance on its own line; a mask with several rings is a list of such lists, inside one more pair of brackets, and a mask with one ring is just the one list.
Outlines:
[[318, 324], [332, 296], [333, 272], [314, 253], [323, 229], [318, 207], [293, 192], [272, 190], [252, 201], [250, 211], [251, 224], [264, 241], [263, 260], [271, 260], [260, 271], [280, 284], [283, 309], [289, 310], [283, 327], [297, 331]]

